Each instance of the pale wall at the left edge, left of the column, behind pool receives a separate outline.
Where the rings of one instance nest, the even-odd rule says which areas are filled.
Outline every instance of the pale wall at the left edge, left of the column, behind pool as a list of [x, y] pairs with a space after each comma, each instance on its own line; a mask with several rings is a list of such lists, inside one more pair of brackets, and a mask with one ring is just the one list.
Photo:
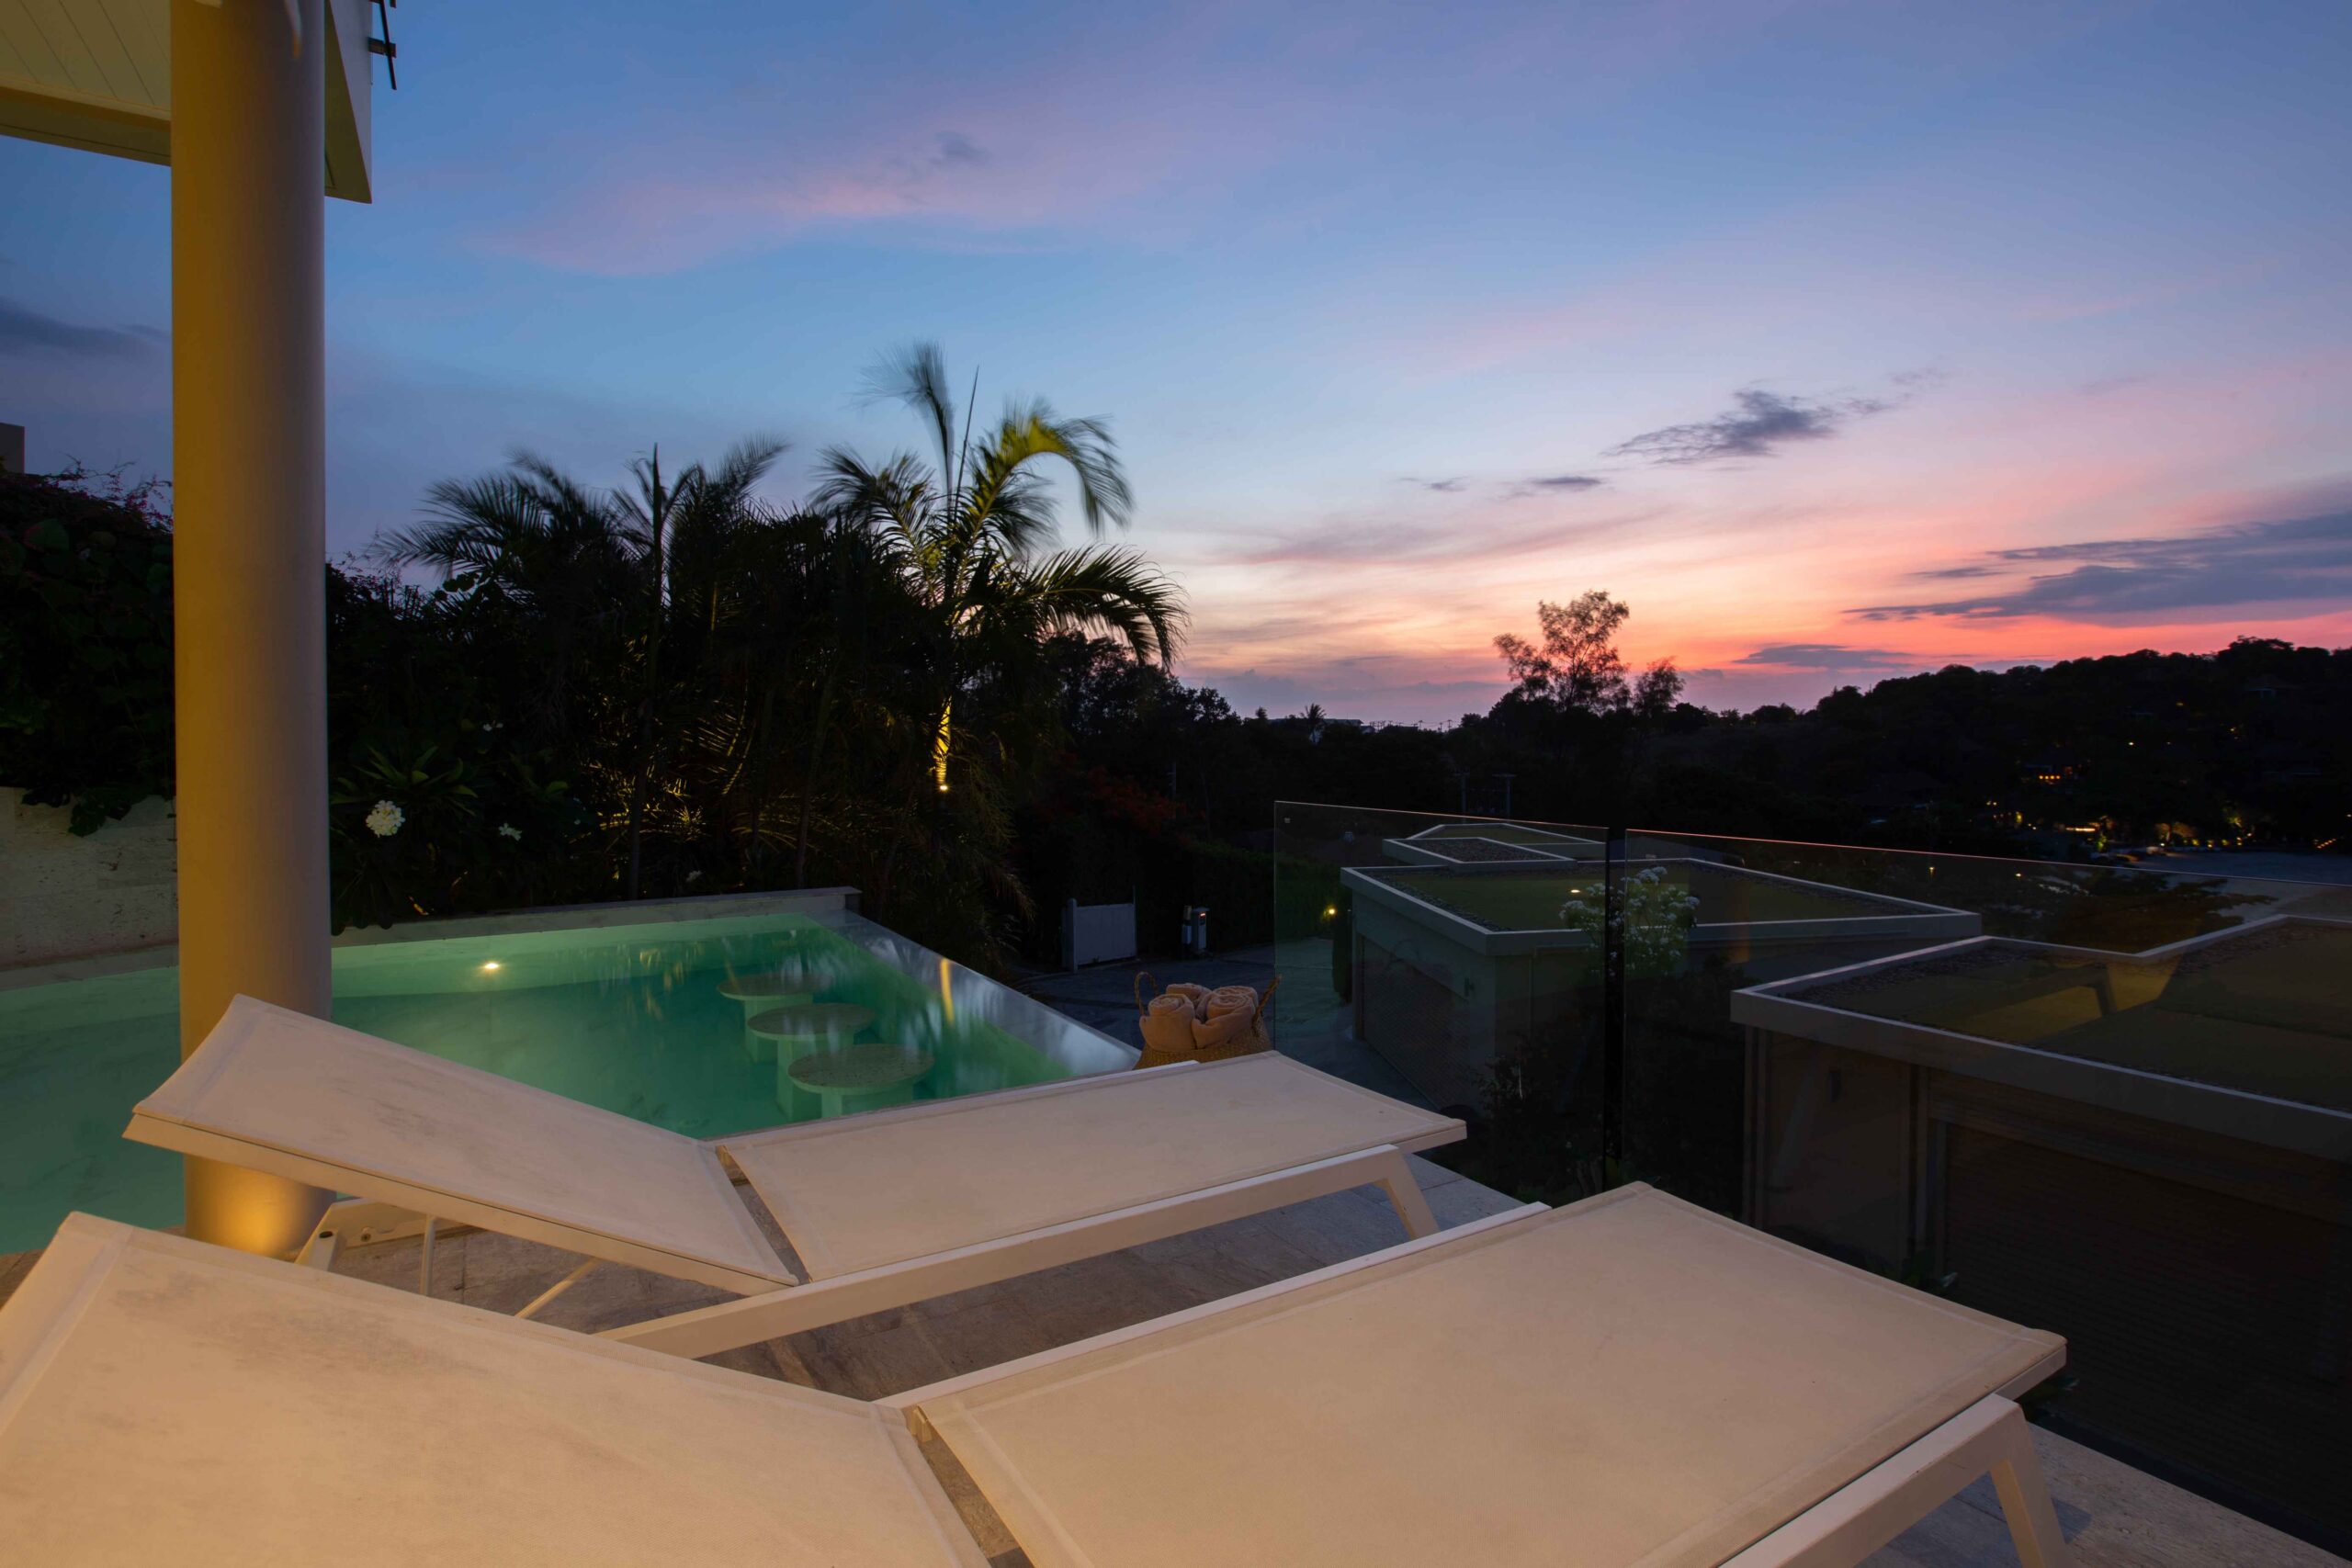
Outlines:
[[172, 802], [143, 799], [87, 839], [64, 806], [0, 788], [0, 964], [169, 943], [176, 933]]

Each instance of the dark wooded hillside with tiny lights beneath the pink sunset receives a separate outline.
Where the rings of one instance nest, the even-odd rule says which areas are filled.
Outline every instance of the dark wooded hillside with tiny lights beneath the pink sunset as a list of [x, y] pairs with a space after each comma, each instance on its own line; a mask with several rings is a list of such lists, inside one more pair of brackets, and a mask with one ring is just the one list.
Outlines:
[[[1512, 691], [1446, 731], [1240, 717], [1101, 644], [1068, 644], [1061, 679], [1058, 820], [1141, 842], [1263, 830], [1275, 799], [2056, 858], [2161, 839], [2340, 849], [2352, 827], [2352, 649], [2274, 639], [1947, 668], [1806, 712]], [[1108, 870], [1127, 856], [1084, 860], [1127, 875]]]

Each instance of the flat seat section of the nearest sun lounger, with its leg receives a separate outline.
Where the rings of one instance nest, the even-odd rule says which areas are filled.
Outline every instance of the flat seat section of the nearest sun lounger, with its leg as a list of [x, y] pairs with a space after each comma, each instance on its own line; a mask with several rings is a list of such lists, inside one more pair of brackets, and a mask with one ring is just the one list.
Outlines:
[[1992, 1474], [2065, 1340], [1649, 1187], [1515, 1211], [882, 1403], [1035, 1568], [1842, 1568]]

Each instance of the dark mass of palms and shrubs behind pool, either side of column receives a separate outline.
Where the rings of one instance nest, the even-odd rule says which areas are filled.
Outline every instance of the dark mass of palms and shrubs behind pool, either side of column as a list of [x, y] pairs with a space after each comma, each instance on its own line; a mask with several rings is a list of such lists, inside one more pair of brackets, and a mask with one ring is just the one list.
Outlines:
[[[1101, 421], [976, 421], [931, 348], [877, 390], [931, 456], [826, 451], [788, 505], [762, 498], [776, 442], [649, 454], [619, 489], [517, 456], [329, 567], [336, 919], [854, 884], [1000, 961], [1030, 914], [1014, 816], [1061, 750], [1056, 639], [1160, 665], [1183, 599], [1056, 538], [1047, 470], [1091, 534], [1129, 517]], [[0, 505], [0, 780], [87, 832], [172, 792], [169, 517], [87, 475], [7, 477]]]

